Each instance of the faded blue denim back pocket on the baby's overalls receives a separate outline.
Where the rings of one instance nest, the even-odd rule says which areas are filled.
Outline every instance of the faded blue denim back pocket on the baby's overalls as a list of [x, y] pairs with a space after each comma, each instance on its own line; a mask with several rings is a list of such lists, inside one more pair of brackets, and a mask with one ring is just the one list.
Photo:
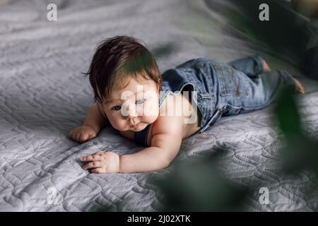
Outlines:
[[221, 96], [246, 97], [249, 95], [246, 81], [248, 78], [244, 73], [226, 65], [215, 65], [214, 68], [217, 72]]

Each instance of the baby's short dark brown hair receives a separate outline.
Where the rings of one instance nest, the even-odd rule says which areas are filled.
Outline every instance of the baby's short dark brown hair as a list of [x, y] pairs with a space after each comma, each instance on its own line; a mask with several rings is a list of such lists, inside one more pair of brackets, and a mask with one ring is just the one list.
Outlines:
[[[124, 88], [122, 78], [152, 79], [161, 89], [161, 75], [151, 52], [134, 37], [115, 36], [98, 44], [93, 56], [89, 76], [94, 90], [94, 100], [109, 99], [114, 88]], [[128, 84], [128, 83], [127, 83]]]

